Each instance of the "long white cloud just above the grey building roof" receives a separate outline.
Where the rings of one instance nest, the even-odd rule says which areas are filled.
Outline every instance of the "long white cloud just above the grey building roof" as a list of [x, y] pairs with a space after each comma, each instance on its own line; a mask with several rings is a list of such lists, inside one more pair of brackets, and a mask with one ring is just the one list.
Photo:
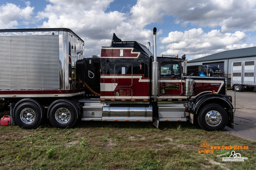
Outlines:
[[241, 31], [222, 33], [220, 30], [214, 29], [208, 33], [204, 33], [202, 28], [194, 28], [189, 30], [189, 39], [188, 31], [170, 32], [168, 37], [164, 37], [160, 41], [160, 43], [167, 43], [168, 45], [162, 45], [160, 49], [166, 49], [164, 53], [161, 53], [164, 55], [188, 53], [194, 59], [224, 50], [253, 46], [253, 44], [238, 44], [246, 38], [247, 35]]

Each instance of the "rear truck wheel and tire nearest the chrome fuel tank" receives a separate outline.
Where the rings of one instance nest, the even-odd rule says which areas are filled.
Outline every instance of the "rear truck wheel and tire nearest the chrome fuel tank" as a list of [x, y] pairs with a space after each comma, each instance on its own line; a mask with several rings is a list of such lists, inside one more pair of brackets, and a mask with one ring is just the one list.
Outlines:
[[71, 128], [76, 124], [77, 111], [68, 102], [58, 102], [49, 110], [50, 123], [56, 128]]

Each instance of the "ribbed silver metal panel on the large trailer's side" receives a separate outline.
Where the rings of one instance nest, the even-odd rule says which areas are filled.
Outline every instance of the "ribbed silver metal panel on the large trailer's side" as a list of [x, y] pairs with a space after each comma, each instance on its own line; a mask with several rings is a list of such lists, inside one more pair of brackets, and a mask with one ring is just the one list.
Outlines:
[[0, 90], [58, 90], [58, 35], [0, 36]]

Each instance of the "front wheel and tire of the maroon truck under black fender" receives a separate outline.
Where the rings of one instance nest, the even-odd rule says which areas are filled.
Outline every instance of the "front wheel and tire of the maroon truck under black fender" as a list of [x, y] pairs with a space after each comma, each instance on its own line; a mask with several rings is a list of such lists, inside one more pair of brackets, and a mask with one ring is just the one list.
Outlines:
[[226, 110], [218, 104], [204, 106], [197, 117], [198, 124], [206, 131], [223, 129], [228, 123]]

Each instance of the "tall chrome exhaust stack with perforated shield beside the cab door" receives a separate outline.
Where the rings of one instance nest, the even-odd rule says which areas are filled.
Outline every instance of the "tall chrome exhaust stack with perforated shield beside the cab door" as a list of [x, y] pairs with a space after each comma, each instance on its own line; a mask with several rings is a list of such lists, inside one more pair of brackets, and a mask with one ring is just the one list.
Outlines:
[[154, 101], [157, 100], [158, 94], [159, 94], [159, 66], [156, 56], [156, 27], [153, 29], [153, 59], [152, 61], [152, 74], [151, 74], [151, 95], [154, 98]]

